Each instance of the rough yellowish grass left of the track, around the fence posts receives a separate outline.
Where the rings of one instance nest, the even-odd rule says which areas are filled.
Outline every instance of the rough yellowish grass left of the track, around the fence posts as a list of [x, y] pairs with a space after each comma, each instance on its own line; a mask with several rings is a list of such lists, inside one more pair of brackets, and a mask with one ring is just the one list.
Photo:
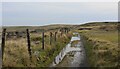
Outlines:
[[[45, 32], [45, 49], [42, 50], [40, 33], [30, 34], [32, 62], [30, 61], [26, 38], [6, 40], [3, 65], [4, 67], [49, 67], [55, 56], [69, 43], [72, 34], [57, 34], [57, 41], [52, 37], [52, 45], [49, 44], [49, 32]], [[36, 44], [35, 42], [38, 42]], [[35, 54], [35, 52], [38, 52]]]

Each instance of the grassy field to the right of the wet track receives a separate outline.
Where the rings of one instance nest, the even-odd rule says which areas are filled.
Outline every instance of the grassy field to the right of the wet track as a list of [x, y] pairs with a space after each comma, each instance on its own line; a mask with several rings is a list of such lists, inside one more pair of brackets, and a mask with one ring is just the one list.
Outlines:
[[119, 49], [117, 30], [105, 31], [94, 28], [94, 30], [79, 30], [79, 33], [82, 35], [83, 44], [85, 45], [88, 63], [90, 66], [118, 66]]

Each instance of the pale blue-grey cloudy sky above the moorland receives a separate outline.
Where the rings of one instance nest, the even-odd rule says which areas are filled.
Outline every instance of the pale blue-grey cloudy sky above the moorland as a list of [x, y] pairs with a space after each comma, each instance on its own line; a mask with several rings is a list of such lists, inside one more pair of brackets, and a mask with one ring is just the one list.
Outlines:
[[[3, 2], [3, 26], [117, 21], [117, 2]], [[0, 20], [1, 21], [1, 20]]]

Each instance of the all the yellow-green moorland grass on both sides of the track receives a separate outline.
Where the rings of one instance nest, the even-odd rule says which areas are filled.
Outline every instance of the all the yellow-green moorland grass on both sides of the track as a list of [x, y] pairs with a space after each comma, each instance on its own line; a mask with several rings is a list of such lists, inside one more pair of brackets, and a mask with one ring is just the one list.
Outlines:
[[[59, 25], [50, 25], [42, 27], [27, 27], [30, 30], [33, 29], [54, 29], [58, 30]], [[66, 27], [62, 26], [61, 27]], [[42, 50], [41, 33], [31, 34], [31, 48], [32, 48], [32, 62], [29, 59], [27, 51], [26, 38], [9, 39], [6, 40], [3, 65], [5, 67], [48, 67], [54, 60], [55, 56], [60, 50], [66, 46], [70, 41], [72, 32], [79, 32], [83, 44], [86, 49], [87, 60], [89, 66], [92, 67], [116, 67], [118, 66], [118, 31], [116, 29], [117, 23], [109, 22], [95, 22], [87, 23], [83, 25], [67, 26], [73, 30], [69, 34], [57, 35], [57, 41], [52, 41], [52, 45], [49, 44], [49, 32], [45, 33], [45, 50]], [[91, 27], [92, 30], [78, 30], [80, 27]], [[23, 30], [23, 27], [7, 28], [11, 30]], [[76, 35], [73, 35], [76, 36]], [[37, 43], [36, 43], [37, 42]], [[76, 41], [77, 42], [77, 41]], [[73, 42], [74, 45], [76, 42]], [[35, 52], [38, 53], [35, 55]]]

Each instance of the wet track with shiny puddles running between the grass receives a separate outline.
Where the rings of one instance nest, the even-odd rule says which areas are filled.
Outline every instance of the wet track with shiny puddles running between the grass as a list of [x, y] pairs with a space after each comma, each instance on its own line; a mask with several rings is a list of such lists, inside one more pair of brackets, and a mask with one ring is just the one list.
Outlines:
[[[54, 58], [50, 67], [85, 67], [85, 50], [80, 41], [80, 35], [73, 36], [71, 41], [60, 51]], [[78, 41], [74, 46], [71, 46], [73, 41]]]

